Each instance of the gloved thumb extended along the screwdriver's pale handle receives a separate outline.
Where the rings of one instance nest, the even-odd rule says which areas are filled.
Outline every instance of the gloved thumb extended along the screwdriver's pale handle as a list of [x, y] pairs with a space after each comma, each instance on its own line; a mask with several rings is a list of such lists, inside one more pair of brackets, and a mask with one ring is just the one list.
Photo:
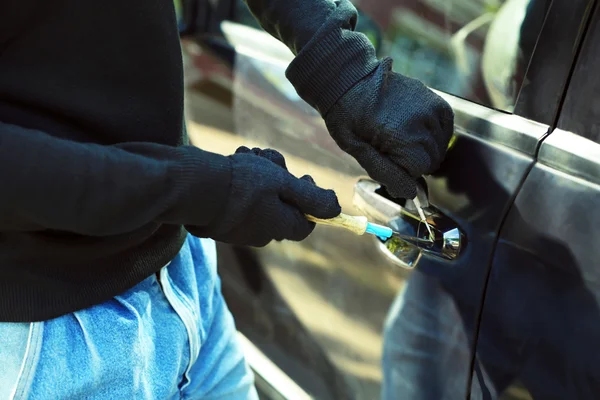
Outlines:
[[338, 216], [342, 208], [335, 192], [322, 189], [313, 182], [312, 178], [306, 175], [301, 179], [290, 175], [289, 182], [283, 188], [280, 197], [302, 214], [324, 219]]

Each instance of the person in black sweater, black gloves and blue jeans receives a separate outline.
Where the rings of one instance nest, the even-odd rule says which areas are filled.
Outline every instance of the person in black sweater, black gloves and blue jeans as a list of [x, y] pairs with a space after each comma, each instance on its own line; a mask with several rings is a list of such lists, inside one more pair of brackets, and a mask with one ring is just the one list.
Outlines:
[[[450, 107], [347, 0], [247, 3], [340, 147], [413, 197]], [[335, 194], [272, 150], [187, 145], [172, 0], [9, 0], [0, 26], [0, 398], [256, 398], [212, 240], [302, 240]]]

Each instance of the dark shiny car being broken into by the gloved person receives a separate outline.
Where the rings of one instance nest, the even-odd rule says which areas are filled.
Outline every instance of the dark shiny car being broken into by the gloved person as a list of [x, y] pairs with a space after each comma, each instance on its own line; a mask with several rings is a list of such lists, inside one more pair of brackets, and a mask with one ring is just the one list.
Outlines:
[[382, 242], [218, 244], [263, 398], [600, 397], [600, 10], [596, 0], [356, 0], [357, 30], [455, 111], [438, 171], [394, 199], [285, 78], [293, 55], [242, 0], [183, 0], [187, 129], [274, 148]]

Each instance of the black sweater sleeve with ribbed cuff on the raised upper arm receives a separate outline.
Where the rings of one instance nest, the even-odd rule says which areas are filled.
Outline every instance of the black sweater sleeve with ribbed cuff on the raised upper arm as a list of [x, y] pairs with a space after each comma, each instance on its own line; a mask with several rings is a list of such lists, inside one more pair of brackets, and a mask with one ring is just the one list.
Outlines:
[[287, 78], [308, 104], [325, 116], [380, 61], [355, 32], [358, 13], [349, 0], [245, 0], [272, 36], [296, 55]]

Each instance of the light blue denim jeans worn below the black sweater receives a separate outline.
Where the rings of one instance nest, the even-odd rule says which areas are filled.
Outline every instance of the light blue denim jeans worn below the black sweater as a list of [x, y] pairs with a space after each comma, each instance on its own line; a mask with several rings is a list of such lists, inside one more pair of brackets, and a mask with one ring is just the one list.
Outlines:
[[97, 306], [0, 323], [0, 399], [257, 399], [212, 240]]

